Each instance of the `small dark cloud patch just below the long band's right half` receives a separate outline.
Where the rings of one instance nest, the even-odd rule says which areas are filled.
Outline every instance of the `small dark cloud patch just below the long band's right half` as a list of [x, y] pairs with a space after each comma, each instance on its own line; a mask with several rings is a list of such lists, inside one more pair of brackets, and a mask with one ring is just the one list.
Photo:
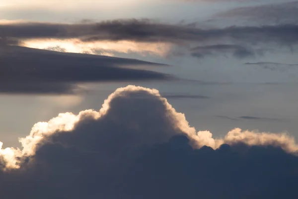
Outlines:
[[254, 57], [253, 50], [239, 45], [218, 44], [209, 46], [198, 46], [191, 50], [191, 55], [198, 58], [205, 56], [218, 56], [218, 55], [232, 55], [235, 58], [248, 58]]

